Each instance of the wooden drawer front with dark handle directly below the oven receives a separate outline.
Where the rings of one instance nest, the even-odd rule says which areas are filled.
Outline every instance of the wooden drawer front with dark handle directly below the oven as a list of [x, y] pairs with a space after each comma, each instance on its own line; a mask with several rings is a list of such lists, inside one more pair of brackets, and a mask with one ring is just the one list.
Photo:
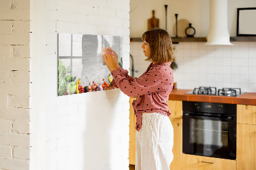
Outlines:
[[236, 160], [182, 154], [182, 170], [236, 170]]

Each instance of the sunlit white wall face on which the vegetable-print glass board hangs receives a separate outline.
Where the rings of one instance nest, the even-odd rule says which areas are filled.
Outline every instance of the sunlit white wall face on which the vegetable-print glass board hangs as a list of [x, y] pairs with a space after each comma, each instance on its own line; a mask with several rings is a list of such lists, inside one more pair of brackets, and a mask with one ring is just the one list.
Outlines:
[[30, 169], [129, 169], [129, 97], [120, 89], [58, 97], [57, 33], [124, 36], [129, 0], [31, 1]]

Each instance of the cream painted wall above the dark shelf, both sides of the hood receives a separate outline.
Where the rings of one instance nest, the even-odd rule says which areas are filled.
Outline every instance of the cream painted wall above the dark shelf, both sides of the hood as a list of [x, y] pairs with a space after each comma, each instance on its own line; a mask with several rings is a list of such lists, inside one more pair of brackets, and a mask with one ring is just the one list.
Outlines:
[[[210, 17], [209, 0], [131, 0], [131, 37], [141, 37], [147, 31], [147, 20], [152, 17], [152, 10], [155, 10], [155, 17], [159, 19], [159, 27], [165, 29], [165, 4], [168, 5], [167, 31], [170, 36], [175, 36], [175, 13], [179, 14], [178, 20], [187, 20], [195, 27], [196, 37], [207, 36]], [[228, 0], [228, 31], [230, 36], [236, 36], [237, 8], [255, 6], [255, 0]], [[184, 27], [182, 23], [186, 22], [181, 22], [180, 27]]]

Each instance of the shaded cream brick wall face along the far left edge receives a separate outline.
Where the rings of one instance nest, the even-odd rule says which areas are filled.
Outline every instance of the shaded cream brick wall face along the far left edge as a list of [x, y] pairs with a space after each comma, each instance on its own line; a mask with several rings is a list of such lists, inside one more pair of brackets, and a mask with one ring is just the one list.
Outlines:
[[29, 169], [29, 1], [0, 11], [0, 169]]

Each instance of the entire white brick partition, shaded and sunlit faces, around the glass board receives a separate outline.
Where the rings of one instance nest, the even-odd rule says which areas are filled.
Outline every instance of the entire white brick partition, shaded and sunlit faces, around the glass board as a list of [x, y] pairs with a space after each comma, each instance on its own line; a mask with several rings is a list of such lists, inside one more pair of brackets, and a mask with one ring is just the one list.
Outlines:
[[57, 33], [123, 36], [128, 68], [129, 0], [4, 0], [0, 10], [0, 169], [128, 169], [129, 98], [58, 97], [56, 52]]

